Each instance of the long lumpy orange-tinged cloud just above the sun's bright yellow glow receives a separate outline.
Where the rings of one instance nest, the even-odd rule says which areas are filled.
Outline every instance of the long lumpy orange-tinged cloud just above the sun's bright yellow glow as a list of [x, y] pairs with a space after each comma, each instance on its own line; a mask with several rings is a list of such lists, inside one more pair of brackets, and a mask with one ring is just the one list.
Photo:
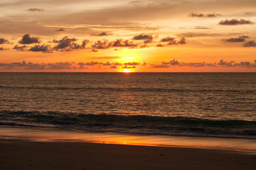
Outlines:
[[133, 42], [129, 40], [117, 39], [112, 42], [108, 42], [108, 40], [97, 40], [92, 48], [95, 49], [108, 49], [110, 47], [137, 47]]

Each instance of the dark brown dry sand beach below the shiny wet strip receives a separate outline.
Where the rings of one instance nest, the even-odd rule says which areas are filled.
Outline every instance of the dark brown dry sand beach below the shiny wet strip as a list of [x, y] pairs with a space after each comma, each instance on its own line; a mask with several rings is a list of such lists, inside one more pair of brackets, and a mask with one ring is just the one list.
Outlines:
[[215, 149], [0, 140], [0, 169], [256, 169], [256, 155]]

